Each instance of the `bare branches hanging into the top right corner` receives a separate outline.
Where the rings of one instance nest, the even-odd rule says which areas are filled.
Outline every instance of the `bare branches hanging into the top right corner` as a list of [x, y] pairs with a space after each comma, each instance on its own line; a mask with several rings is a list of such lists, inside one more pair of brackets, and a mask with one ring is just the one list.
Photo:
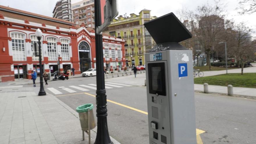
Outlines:
[[256, 12], [256, 0], [241, 0], [239, 1], [239, 8], [241, 10], [239, 14], [251, 14]]

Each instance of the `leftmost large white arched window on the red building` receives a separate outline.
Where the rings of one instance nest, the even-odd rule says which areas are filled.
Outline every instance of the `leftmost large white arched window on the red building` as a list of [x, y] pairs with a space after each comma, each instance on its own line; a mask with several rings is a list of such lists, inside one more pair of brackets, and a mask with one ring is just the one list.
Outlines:
[[12, 33], [13, 61], [26, 61], [25, 35]]

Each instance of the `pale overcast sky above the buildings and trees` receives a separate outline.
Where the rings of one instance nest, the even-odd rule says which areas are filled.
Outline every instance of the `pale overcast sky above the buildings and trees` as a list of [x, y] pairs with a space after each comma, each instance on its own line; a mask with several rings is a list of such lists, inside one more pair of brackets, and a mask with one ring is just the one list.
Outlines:
[[[58, 0], [1, 0], [0, 5], [17, 8], [20, 10], [38, 13], [41, 15], [52, 16], [55, 3]], [[71, 3], [76, 3], [81, 0], [71, 0]], [[250, 15], [239, 15], [237, 10], [239, 0], [222, 0], [227, 4], [225, 7], [228, 13], [227, 18], [233, 19], [235, 23], [246, 22], [253, 29], [253, 36], [256, 38], [256, 13]], [[194, 11], [197, 6], [207, 3], [207, 0], [119, 0], [119, 15], [127, 13], [138, 13], [146, 8], [151, 10], [152, 16], [160, 17], [167, 13], [173, 12], [177, 15], [177, 10], [182, 7]], [[214, 4], [214, 0], [208, 0], [208, 3]]]

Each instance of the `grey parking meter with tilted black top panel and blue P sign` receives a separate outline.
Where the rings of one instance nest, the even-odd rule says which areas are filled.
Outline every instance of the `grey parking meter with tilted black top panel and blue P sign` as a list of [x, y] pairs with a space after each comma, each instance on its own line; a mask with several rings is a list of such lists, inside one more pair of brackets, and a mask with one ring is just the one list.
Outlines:
[[157, 43], [145, 54], [150, 144], [196, 144], [191, 33], [173, 13], [145, 22]]

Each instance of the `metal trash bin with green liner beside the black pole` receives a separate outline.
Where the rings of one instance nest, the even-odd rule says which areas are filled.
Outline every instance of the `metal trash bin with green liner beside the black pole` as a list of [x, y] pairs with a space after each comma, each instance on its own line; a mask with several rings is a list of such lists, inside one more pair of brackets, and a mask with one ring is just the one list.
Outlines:
[[93, 115], [93, 104], [83, 104], [78, 106], [76, 110], [79, 113], [80, 124], [83, 131], [83, 140], [84, 131], [88, 131], [90, 143], [90, 130], [96, 127]]

